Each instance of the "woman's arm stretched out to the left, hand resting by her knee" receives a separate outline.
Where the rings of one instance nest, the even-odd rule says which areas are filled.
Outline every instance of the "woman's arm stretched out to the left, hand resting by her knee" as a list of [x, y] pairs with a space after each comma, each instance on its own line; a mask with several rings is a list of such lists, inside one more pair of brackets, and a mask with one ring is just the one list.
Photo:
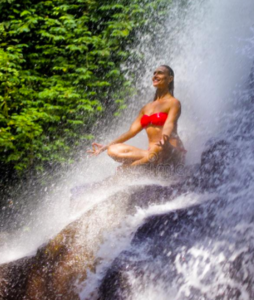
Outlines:
[[[110, 142], [108, 145], [103, 146], [101, 144], [98, 143], [92, 143], [93, 146], [93, 150], [88, 150], [88, 153], [91, 153], [93, 155], [98, 155], [101, 152], [105, 151], [108, 149], [109, 146], [114, 145], [114, 144], [118, 144], [118, 143], [123, 143], [125, 141], [128, 141], [129, 139], [133, 138], [136, 134], [138, 134], [143, 128], [141, 126], [140, 120], [144, 114], [143, 112], [144, 107], [140, 110], [138, 117], [136, 118], [136, 120], [131, 124], [129, 130], [125, 133], [123, 133], [121, 136], [119, 136], [118, 138], [116, 138], [115, 140], [113, 140], [112, 142]], [[95, 147], [97, 147], [97, 149], [95, 149]]]

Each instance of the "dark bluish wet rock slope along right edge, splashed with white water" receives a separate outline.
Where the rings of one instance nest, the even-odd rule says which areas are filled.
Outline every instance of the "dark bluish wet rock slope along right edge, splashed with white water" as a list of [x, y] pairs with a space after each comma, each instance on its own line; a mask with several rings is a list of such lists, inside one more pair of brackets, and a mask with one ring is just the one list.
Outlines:
[[[210, 140], [200, 165], [173, 188], [176, 196], [214, 197], [146, 219], [105, 271], [98, 300], [254, 299], [253, 74], [250, 82], [239, 108], [245, 117], [231, 119], [225, 137]], [[161, 195], [172, 199], [170, 189]]]

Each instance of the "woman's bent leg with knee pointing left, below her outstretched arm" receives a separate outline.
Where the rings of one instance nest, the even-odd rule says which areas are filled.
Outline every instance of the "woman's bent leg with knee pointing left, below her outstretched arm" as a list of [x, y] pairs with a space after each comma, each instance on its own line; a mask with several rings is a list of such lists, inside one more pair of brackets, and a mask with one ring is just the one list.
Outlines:
[[146, 157], [148, 150], [139, 149], [126, 144], [114, 144], [109, 146], [108, 155], [115, 161], [128, 165]]

